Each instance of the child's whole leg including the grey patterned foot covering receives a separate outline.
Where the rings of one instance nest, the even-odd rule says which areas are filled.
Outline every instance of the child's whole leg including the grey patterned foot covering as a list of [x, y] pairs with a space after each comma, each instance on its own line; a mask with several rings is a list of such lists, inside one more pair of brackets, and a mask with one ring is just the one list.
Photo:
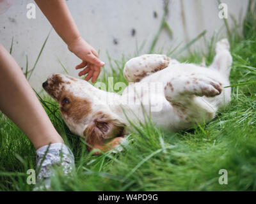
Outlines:
[[[51, 185], [52, 166], [61, 164], [64, 173], [74, 168], [74, 156], [63, 144], [51, 120], [36, 98], [13, 57], [0, 45], [0, 110], [28, 136], [36, 150], [39, 184]], [[49, 143], [52, 143], [50, 147]], [[45, 152], [47, 154], [45, 155]], [[60, 155], [62, 152], [62, 156]]]

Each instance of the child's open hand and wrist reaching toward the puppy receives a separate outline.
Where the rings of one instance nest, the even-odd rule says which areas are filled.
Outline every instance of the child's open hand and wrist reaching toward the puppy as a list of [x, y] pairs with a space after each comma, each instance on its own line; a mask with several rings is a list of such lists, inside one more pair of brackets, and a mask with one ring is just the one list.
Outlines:
[[83, 61], [81, 64], [76, 66], [76, 69], [86, 67], [83, 71], [79, 72], [79, 77], [87, 74], [84, 79], [88, 81], [92, 78], [92, 82], [94, 83], [99, 77], [100, 67], [105, 64], [100, 61], [96, 50], [81, 37], [70, 43], [70, 45], [68, 45], [68, 49]]

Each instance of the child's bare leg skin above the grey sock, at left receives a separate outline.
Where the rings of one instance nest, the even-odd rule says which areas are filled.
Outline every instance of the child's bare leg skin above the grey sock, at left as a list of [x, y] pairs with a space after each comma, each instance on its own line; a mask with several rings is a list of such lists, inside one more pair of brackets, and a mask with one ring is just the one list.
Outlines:
[[36, 149], [63, 143], [19, 65], [0, 45], [0, 110], [28, 136]]

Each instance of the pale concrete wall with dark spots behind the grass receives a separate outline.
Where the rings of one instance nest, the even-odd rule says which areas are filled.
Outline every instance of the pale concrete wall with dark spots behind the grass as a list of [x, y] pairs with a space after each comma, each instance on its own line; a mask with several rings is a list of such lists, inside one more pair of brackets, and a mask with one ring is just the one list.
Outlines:
[[[244, 16], [247, 0], [222, 2], [227, 3], [229, 15], [238, 18], [241, 13], [241, 16]], [[32, 68], [51, 30], [51, 25], [38, 7], [35, 19], [26, 17], [28, 3], [34, 1], [13, 0], [9, 10], [0, 16], [0, 43], [10, 49], [13, 36], [12, 55], [22, 68], [26, 66], [26, 54], [29, 68]], [[136, 43], [140, 46], [145, 41], [141, 54], [147, 52], [159, 29], [164, 11], [163, 0], [68, 0], [67, 4], [83, 38], [96, 50], [100, 50], [100, 58], [106, 62], [106, 69], [109, 68], [106, 50], [113, 59], [120, 59], [122, 54], [129, 57], [134, 54]], [[173, 38], [163, 31], [156, 48], [163, 47], [166, 52], [168, 48], [175, 47], [180, 42], [185, 45], [205, 29], [208, 39], [221, 27], [221, 35], [225, 36], [225, 27], [223, 19], [218, 17], [220, 10], [216, 0], [173, 0], [168, 10], [167, 21], [172, 28]], [[228, 22], [232, 23], [230, 16]], [[204, 41], [198, 41], [191, 49], [196, 47], [204, 47]], [[52, 31], [29, 81], [36, 90], [40, 91], [42, 82], [49, 74], [64, 72], [57, 57], [68, 69], [68, 73], [77, 77], [78, 71], [74, 67], [80, 60], [68, 51], [65, 43]]]

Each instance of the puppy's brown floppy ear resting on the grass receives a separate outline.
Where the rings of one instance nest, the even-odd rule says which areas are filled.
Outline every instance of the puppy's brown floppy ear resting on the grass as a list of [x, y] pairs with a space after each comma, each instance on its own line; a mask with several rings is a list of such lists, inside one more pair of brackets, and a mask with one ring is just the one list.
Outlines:
[[[111, 147], [117, 147], [119, 145], [118, 143], [109, 142], [109, 140], [124, 136], [124, 130], [124, 124], [118, 120], [110, 119], [106, 115], [104, 117], [97, 117], [84, 130], [88, 150], [100, 149], [102, 151], [108, 151], [111, 150]], [[99, 154], [99, 152], [95, 154]]]

